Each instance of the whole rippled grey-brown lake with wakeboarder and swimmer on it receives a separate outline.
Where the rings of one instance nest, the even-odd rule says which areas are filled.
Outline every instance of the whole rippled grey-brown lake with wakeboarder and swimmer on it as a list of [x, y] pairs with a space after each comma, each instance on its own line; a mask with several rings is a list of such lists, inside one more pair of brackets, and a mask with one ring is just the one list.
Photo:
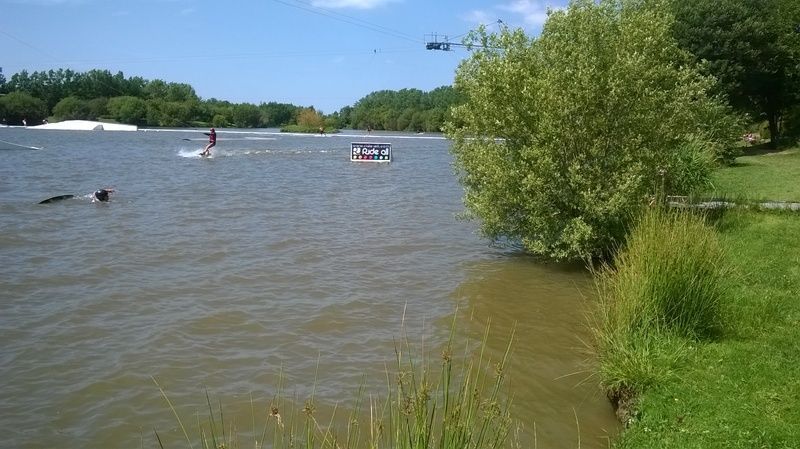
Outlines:
[[[186, 447], [153, 377], [189, 424], [207, 389], [252, 428], [280, 373], [346, 408], [362, 382], [385, 391], [404, 335], [438, 355], [455, 320], [464, 339], [491, 321], [494, 355], [516, 327], [525, 446], [608, 447], [591, 279], [459, 220], [449, 141], [219, 130], [201, 159], [203, 131], [0, 128], [0, 446], [157, 447], [156, 429]], [[357, 141], [394, 161], [350, 162]]]

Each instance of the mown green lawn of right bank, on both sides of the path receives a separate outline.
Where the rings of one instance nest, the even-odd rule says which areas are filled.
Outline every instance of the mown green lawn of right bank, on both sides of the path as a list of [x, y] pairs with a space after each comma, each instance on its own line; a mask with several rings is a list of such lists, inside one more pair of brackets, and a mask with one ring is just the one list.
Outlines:
[[[798, 174], [797, 148], [746, 156], [716, 174], [716, 190], [800, 201]], [[728, 270], [718, 281], [719, 327], [707, 335], [663, 332], [634, 347], [633, 359], [652, 377], [631, 375], [648, 381], [635, 384], [616, 447], [800, 444], [800, 214], [736, 210], [713, 226]]]

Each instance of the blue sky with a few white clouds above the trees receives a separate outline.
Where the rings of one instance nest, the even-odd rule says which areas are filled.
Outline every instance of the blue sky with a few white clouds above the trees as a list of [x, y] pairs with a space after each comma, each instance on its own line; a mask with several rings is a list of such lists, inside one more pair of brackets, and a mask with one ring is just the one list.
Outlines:
[[[191, 84], [202, 98], [325, 113], [370, 92], [453, 82], [458, 41], [498, 19], [535, 35], [566, 0], [0, 0], [0, 67], [108, 69]], [[493, 25], [496, 29], [496, 25]]]

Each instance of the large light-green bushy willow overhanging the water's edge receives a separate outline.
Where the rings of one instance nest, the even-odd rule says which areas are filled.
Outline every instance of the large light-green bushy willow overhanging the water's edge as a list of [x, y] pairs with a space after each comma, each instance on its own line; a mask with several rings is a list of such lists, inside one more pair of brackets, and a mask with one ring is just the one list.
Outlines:
[[707, 181], [735, 120], [672, 23], [658, 0], [576, 0], [538, 38], [474, 33], [447, 133], [486, 236], [556, 260], [602, 256], [637, 207]]

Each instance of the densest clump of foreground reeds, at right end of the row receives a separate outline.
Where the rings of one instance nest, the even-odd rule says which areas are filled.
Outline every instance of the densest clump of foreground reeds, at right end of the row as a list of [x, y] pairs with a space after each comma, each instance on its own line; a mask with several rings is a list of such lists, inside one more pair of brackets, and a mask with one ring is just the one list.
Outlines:
[[502, 386], [511, 346], [509, 341], [501, 360], [487, 360], [488, 330], [487, 326], [477, 357], [465, 353], [460, 363], [455, 362], [451, 331], [438, 376], [398, 351], [394, 391], [390, 388], [382, 407], [383, 423], [378, 426], [384, 428], [388, 423], [389, 431], [373, 439], [370, 447], [504, 447], [511, 427], [511, 404]]

